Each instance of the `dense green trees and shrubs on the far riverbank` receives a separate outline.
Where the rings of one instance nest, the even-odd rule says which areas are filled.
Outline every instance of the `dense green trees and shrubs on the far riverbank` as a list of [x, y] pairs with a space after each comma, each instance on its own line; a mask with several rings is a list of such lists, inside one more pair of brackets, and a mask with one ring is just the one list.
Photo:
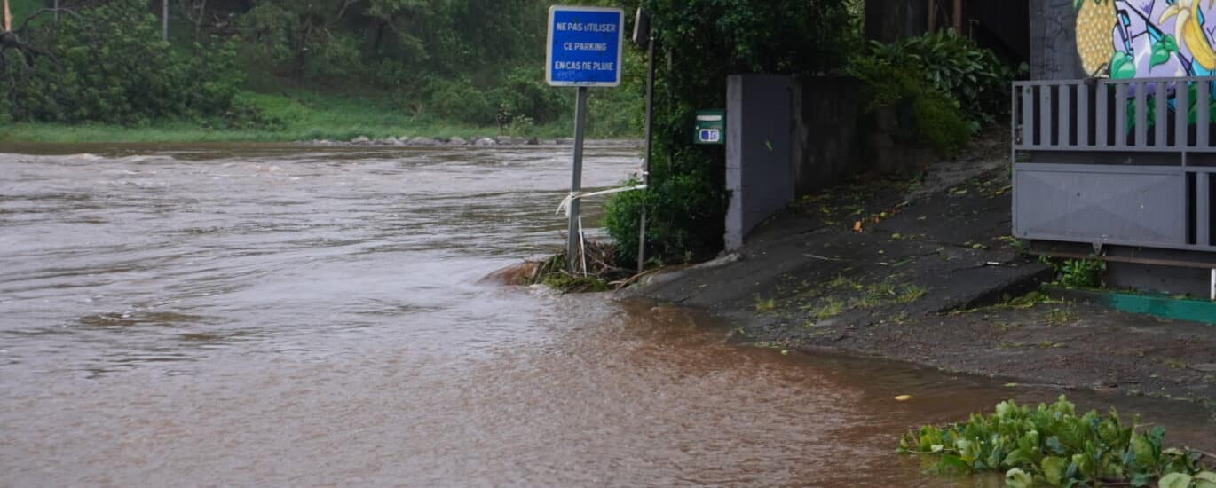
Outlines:
[[[154, 5], [153, 5], [154, 4]], [[572, 90], [545, 85], [542, 0], [171, 0], [170, 39], [159, 1], [60, 0], [19, 32], [33, 66], [0, 63], [0, 118], [16, 122], [203, 120], [274, 129], [242, 91], [299, 90], [371, 99], [411, 122], [558, 125]], [[13, 0], [18, 26], [49, 0]], [[637, 55], [626, 58], [636, 69]], [[623, 97], [621, 91], [629, 97]], [[634, 91], [597, 91], [591, 134], [636, 134]]]

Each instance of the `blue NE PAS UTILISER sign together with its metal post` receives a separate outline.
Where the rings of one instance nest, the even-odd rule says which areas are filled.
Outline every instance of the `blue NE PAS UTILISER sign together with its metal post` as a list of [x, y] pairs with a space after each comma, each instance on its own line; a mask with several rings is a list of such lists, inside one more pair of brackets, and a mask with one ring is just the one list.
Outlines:
[[581, 262], [582, 146], [590, 86], [619, 86], [625, 44], [625, 11], [602, 7], [553, 6], [548, 10], [545, 82], [578, 86], [574, 112], [574, 175], [570, 179], [569, 241], [565, 257], [570, 271]]

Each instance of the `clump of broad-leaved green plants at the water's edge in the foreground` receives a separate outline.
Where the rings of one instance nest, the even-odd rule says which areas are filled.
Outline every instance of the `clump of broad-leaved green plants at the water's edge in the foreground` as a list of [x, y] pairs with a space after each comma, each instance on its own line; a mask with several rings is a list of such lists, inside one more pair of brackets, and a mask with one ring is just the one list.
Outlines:
[[1203, 454], [1162, 448], [1165, 430], [1137, 432], [1119, 413], [1077, 415], [1064, 397], [1030, 408], [1003, 402], [992, 415], [964, 424], [924, 426], [900, 441], [900, 453], [936, 455], [940, 467], [961, 472], [998, 471], [1013, 488], [1035, 486], [1216, 488]]

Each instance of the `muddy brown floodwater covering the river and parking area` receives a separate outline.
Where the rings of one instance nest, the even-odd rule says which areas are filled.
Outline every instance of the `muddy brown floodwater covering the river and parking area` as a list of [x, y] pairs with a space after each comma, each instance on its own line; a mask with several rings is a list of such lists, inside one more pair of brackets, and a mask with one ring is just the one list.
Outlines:
[[562, 245], [568, 150], [0, 152], [0, 486], [984, 486], [899, 433], [1060, 394], [483, 282]]

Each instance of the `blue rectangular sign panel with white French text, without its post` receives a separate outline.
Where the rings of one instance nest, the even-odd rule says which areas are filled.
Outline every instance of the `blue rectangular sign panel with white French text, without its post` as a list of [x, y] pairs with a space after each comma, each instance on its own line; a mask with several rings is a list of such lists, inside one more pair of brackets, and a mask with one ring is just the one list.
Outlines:
[[553, 6], [548, 10], [545, 82], [553, 86], [619, 86], [625, 11]]

